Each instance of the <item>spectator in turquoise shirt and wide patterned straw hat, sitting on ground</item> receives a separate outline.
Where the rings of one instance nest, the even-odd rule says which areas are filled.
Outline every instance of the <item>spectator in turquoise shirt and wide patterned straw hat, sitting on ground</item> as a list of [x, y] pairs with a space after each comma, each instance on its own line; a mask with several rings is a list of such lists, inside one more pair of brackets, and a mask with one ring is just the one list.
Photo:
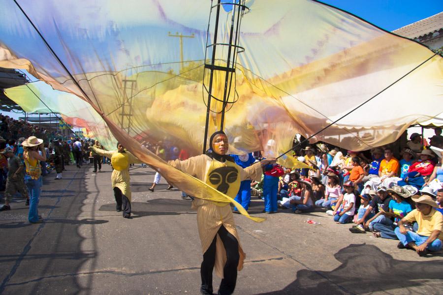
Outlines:
[[388, 188], [386, 192], [393, 199], [389, 202], [389, 211], [382, 212], [382, 214], [386, 217], [393, 218], [394, 223], [391, 225], [375, 223], [374, 236], [397, 239], [394, 232], [397, 223], [412, 211], [412, 205], [410, 204], [411, 192], [401, 186], [393, 186], [392, 188]]

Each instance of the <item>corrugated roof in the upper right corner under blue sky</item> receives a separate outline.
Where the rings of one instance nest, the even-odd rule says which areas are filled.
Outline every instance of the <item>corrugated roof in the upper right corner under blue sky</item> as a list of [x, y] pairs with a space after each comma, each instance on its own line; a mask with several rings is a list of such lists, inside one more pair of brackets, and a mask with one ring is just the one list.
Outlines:
[[393, 30], [392, 32], [410, 39], [423, 36], [443, 28], [443, 12], [425, 18], [411, 25]]

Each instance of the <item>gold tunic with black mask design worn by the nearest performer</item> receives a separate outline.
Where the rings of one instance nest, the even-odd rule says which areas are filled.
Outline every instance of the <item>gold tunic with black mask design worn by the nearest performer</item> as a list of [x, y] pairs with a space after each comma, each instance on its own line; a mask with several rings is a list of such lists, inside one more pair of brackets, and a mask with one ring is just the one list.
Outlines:
[[[235, 198], [237, 195], [242, 180], [259, 181], [263, 174], [260, 163], [255, 163], [243, 169], [234, 162], [227, 160], [220, 162], [205, 154], [191, 157], [184, 161], [169, 161], [169, 164], [202, 180], [231, 198]], [[226, 263], [226, 252], [221, 238], [217, 234], [221, 226], [224, 226], [238, 241], [240, 260], [237, 269], [241, 270], [246, 255], [240, 245], [240, 239], [235, 228], [234, 217], [229, 203], [195, 198], [192, 201], [192, 208], [197, 209], [198, 234], [203, 254], [208, 250], [214, 237], [217, 235], [214, 266], [216, 274], [223, 278], [223, 267]]]

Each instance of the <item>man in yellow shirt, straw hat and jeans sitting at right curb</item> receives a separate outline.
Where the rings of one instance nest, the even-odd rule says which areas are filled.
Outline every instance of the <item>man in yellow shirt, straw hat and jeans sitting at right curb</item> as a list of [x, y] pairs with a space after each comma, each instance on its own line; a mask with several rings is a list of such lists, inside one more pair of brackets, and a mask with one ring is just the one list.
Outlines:
[[[442, 249], [443, 239], [443, 215], [436, 210], [439, 206], [430, 196], [412, 196], [416, 209], [398, 222], [395, 229], [400, 242], [397, 247], [400, 249], [409, 248], [424, 256], [429, 252], [436, 252]], [[405, 223], [418, 223], [416, 233], [408, 231]]]

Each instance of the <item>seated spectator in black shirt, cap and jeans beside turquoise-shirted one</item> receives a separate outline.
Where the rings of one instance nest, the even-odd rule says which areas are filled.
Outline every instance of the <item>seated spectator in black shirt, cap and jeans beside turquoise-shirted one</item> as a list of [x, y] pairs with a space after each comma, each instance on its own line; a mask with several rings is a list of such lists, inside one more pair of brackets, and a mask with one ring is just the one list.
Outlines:
[[[374, 231], [374, 224], [382, 223], [385, 225], [391, 225], [392, 220], [383, 215], [383, 212], [389, 211], [389, 202], [391, 202], [392, 197], [388, 196], [386, 193], [386, 188], [384, 186], [377, 190], [377, 197], [374, 197], [369, 204], [369, 208], [365, 211], [362, 218], [357, 220], [357, 224], [365, 225], [365, 229], [369, 231]], [[366, 217], [374, 210], [375, 215], [369, 220]]]

